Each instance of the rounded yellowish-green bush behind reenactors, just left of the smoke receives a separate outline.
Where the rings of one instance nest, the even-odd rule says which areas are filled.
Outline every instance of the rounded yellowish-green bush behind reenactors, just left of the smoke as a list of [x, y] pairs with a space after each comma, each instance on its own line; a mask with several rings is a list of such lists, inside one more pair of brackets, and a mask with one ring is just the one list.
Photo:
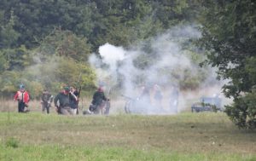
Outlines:
[[88, 93], [95, 89], [96, 74], [90, 66], [67, 57], [52, 57], [52, 60], [26, 68], [22, 76], [28, 81], [27, 89], [34, 98], [39, 98], [43, 89], [55, 95], [64, 85], [81, 86]]

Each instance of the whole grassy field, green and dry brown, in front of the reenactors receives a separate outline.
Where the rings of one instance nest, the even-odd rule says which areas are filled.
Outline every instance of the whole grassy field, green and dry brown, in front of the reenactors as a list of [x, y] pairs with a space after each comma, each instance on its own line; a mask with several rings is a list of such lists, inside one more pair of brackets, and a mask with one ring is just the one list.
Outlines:
[[0, 113], [0, 160], [256, 160], [256, 133], [224, 113]]

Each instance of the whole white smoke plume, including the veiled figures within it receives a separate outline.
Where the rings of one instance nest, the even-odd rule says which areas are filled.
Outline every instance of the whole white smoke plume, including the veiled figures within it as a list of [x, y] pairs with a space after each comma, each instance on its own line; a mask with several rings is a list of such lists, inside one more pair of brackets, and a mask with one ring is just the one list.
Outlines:
[[[197, 57], [203, 55], [196, 53], [191, 40], [199, 37], [201, 33], [193, 26], [179, 26], [129, 49], [106, 43], [99, 48], [99, 55], [90, 57], [90, 64], [96, 68], [99, 82], [106, 82], [115, 95], [125, 95], [123, 100], [137, 106], [134, 112], [180, 112], [202, 95], [220, 94], [222, 83], [216, 80], [214, 69], [198, 66]], [[146, 102], [142, 101], [143, 89], [148, 90]], [[161, 101], [156, 99], [157, 91]], [[172, 109], [172, 104], [177, 109]]]

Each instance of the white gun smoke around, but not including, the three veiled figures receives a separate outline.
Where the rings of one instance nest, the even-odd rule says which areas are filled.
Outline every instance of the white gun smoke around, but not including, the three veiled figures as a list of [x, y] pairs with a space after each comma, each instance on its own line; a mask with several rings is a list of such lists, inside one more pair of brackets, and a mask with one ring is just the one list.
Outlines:
[[[137, 97], [140, 95], [140, 87], [148, 85], [150, 86], [151, 100], [154, 100], [154, 84], [159, 84], [164, 95], [162, 108], [165, 109], [165, 112], [172, 113], [168, 110], [170, 108], [170, 94], [172, 93], [170, 88], [174, 85], [179, 89], [180, 81], [185, 80], [188, 71], [190, 72], [189, 75], [192, 76], [200, 74], [200, 67], [189, 58], [186, 53], [187, 50], [183, 49], [182, 45], [189, 42], [190, 38], [198, 37], [201, 37], [201, 33], [195, 27], [177, 26], [158, 37], [152, 38], [147, 43], [136, 45], [132, 49], [123, 49], [106, 43], [99, 48], [102, 59], [92, 55], [90, 64], [96, 68], [99, 81], [111, 82], [112, 86], [121, 82], [119, 88], [122, 88], [120, 91], [123, 95]], [[145, 44], [150, 52], [147, 51], [147, 48], [145, 49]], [[143, 59], [143, 56], [147, 59]], [[151, 61], [147, 61], [150, 59]], [[136, 65], [140, 63], [146, 68]], [[215, 79], [215, 75], [212, 74], [214, 70], [207, 68], [206, 72], [207, 78], [201, 84], [206, 87], [208, 83], [211, 83], [211, 87], [215, 85], [214, 88], [208, 88], [209, 91], [178, 91], [178, 111], [188, 106], [186, 102], [199, 98], [200, 95], [212, 96], [220, 93], [220, 87], [223, 84], [218, 83]], [[158, 108], [155, 107], [155, 102], [151, 101], [151, 105], [153, 104], [152, 109], [154, 108], [154, 110], [148, 110], [146, 114], [160, 113], [155, 110]], [[139, 106], [145, 108], [149, 104], [140, 104]]]

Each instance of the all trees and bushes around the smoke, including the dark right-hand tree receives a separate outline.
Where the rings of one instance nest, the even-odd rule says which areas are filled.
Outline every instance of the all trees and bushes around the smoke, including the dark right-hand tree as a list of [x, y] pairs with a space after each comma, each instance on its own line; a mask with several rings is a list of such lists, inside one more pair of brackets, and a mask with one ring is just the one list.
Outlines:
[[[255, 5], [253, 0], [1, 0], [0, 94], [13, 95], [19, 83], [34, 97], [44, 88], [58, 91], [62, 83], [93, 90], [96, 73], [88, 58], [102, 44], [129, 49], [172, 26], [198, 24], [201, 49], [190, 56], [198, 61], [207, 55], [205, 64], [230, 80], [224, 94], [235, 104], [226, 112], [239, 127], [255, 128]], [[150, 54], [147, 45], [145, 53]], [[196, 78], [207, 77], [186, 84], [196, 88], [201, 81]]]

